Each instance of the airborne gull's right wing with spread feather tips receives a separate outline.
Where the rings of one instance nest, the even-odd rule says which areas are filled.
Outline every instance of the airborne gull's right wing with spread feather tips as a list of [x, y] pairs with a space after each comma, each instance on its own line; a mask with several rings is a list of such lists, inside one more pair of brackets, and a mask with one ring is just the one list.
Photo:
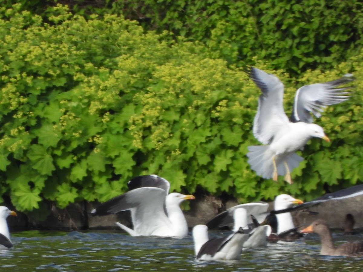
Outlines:
[[350, 76], [345, 76], [326, 83], [315, 83], [305, 85], [296, 91], [291, 122], [312, 123], [313, 118], [310, 112], [316, 117], [320, 117], [323, 108], [333, 104], [338, 104], [349, 98], [345, 91], [350, 87], [336, 88], [339, 85], [349, 83], [353, 80]]

